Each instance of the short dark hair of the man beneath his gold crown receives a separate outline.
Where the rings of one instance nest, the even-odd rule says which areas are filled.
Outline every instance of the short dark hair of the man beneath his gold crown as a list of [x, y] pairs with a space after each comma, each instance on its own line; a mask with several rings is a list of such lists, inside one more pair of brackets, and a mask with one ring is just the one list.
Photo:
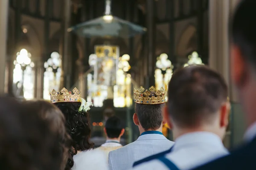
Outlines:
[[162, 109], [165, 103], [157, 105], [135, 104], [135, 113], [144, 130], [157, 130], [163, 122]]

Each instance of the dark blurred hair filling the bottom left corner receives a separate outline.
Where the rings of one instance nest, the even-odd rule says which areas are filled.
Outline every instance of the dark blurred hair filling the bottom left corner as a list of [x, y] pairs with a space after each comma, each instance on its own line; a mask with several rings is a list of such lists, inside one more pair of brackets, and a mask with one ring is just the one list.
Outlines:
[[0, 169], [61, 170], [56, 134], [30, 107], [0, 97]]

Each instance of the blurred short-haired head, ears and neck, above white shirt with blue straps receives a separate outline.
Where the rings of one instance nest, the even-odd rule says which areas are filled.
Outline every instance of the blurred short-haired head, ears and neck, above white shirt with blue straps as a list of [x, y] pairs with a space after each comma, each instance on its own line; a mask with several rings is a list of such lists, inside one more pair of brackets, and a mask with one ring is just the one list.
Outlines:
[[223, 77], [206, 66], [193, 65], [177, 70], [169, 82], [165, 109], [175, 133], [211, 131], [221, 138], [228, 125], [230, 104]]

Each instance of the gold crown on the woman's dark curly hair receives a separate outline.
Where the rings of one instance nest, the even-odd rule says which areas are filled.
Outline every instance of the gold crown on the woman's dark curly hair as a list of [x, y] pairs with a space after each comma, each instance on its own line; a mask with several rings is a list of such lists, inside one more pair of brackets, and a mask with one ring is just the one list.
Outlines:
[[73, 93], [68, 91], [66, 88], [61, 89], [61, 93], [55, 91], [54, 89], [50, 92], [51, 103], [57, 102], [81, 102], [81, 92], [77, 88], [73, 89]]

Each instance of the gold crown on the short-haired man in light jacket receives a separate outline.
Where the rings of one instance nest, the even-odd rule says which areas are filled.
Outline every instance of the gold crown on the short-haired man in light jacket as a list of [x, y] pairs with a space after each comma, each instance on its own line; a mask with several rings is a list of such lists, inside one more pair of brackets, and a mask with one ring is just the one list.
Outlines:
[[145, 88], [140, 86], [139, 89], [134, 88], [134, 102], [143, 105], [157, 105], [165, 102], [166, 91], [162, 88], [156, 91], [154, 86], [151, 86], [144, 92]]

